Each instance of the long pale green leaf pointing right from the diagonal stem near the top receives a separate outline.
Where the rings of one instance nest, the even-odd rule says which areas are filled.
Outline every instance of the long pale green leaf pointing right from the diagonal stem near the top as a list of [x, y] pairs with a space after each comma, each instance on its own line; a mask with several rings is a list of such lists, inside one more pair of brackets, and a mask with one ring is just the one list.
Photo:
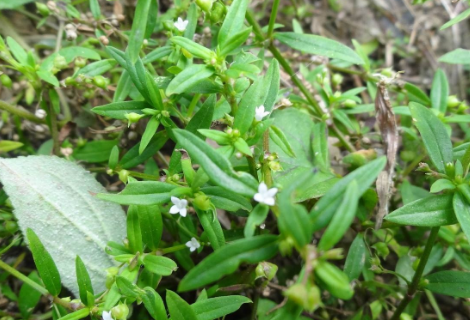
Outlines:
[[355, 64], [364, 63], [354, 50], [325, 37], [295, 32], [280, 32], [276, 33], [274, 37], [289, 47], [302, 52], [340, 59]]

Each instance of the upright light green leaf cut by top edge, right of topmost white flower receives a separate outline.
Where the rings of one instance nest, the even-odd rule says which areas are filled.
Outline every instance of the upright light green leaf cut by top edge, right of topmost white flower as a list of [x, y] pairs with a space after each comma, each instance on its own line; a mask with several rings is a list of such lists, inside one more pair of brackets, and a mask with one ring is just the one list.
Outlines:
[[224, 22], [220, 27], [217, 42], [223, 51], [230, 38], [243, 30], [248, 0], [235, 0], [230, 5]]

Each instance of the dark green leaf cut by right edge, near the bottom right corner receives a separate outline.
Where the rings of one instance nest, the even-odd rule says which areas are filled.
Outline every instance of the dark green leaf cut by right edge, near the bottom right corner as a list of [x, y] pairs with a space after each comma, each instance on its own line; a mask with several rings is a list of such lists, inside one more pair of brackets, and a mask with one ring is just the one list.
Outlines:
[[426, 289], [457, 298], [470, 298], [470, 273], [463, 271], [440, 271], [426, 277]]

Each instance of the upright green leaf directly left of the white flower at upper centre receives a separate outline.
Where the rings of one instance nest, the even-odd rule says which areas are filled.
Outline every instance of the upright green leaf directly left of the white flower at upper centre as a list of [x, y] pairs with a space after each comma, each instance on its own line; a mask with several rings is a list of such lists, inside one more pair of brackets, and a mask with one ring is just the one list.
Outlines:
[[255, 81], [240, 100], [233, 127], [240, 130], [242, 136], [250, 129], [255, 119], [256, 107], [258, 107], [261, 102], [260, 89], [262, 84], [262, 79]]

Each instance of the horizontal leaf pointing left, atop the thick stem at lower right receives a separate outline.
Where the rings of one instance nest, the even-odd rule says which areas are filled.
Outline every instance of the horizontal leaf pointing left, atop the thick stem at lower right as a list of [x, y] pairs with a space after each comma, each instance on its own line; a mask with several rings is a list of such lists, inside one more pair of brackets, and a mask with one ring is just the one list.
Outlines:
[[385, 220], [417, 227], [438, 227], [457, 223], [451, 194], [413, 201], [387, 215]]

